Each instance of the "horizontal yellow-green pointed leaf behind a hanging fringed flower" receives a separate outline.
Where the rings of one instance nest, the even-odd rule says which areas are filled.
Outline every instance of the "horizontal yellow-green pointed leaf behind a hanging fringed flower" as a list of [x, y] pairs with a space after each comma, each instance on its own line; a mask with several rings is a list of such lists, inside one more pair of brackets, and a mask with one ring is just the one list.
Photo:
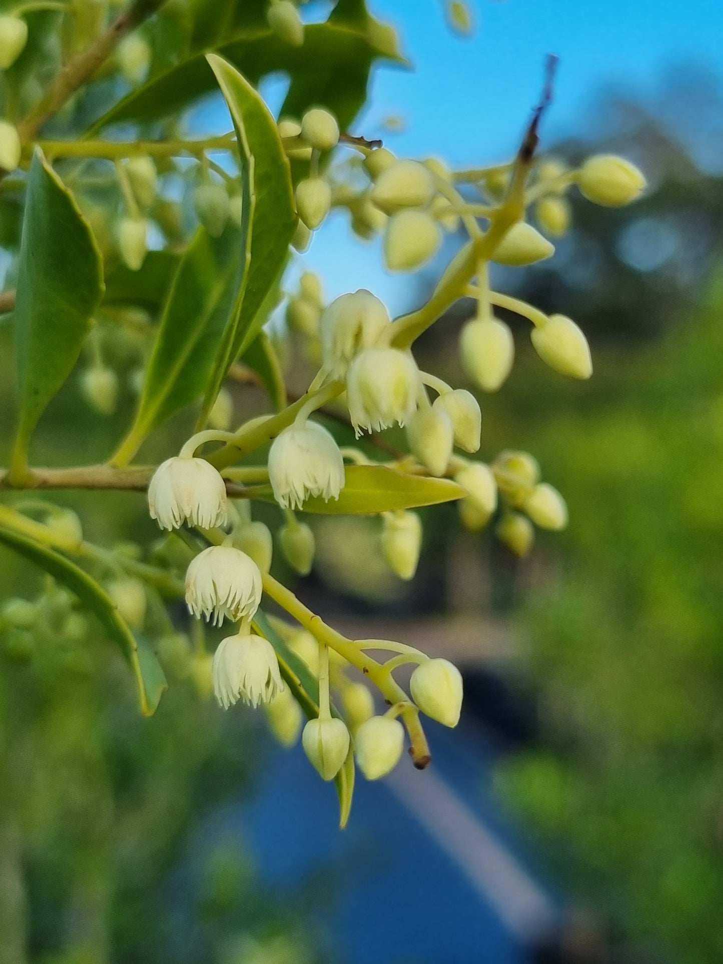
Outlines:
[[[337, 499], [325, 501], [321, 495], [307, 499], [303, 512], [327, 515], [375, 515], [395, 509], [415, 509], [424, 505], [451, 502], [467, 495], [462, 486], [449, 479], [409, 475], [386, 466], [346, 466], [346, 482]], [[270, 487], [254, 489], [254, 498], [273, 502]]]

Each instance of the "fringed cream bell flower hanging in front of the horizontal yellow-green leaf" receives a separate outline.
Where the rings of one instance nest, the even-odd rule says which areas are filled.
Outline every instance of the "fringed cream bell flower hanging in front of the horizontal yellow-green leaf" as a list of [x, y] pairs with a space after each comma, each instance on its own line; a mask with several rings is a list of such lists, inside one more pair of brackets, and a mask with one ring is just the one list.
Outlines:
[[284, 509], [300, 508], [309, 495], [338, 498], [344, 460], [334, 437], [317, 422], [289, 425], [269, 451], [269, 479]]

